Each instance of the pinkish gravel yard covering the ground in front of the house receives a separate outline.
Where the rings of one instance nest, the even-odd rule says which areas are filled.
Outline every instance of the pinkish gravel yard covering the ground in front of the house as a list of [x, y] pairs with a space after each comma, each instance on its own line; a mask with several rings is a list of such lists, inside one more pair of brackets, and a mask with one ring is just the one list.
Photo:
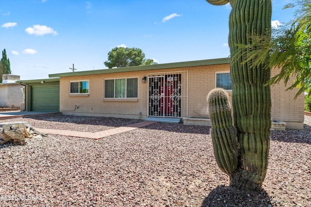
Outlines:
[[[97, 132], [138, 120], [37, 116], [33, 127]], [[51, 135], [0, 145], [0, 206], [311, 207], [311, 117], [271, 132], [263, 191], [232, 191], [210, 127], [155, 123], [100, 140]]]

